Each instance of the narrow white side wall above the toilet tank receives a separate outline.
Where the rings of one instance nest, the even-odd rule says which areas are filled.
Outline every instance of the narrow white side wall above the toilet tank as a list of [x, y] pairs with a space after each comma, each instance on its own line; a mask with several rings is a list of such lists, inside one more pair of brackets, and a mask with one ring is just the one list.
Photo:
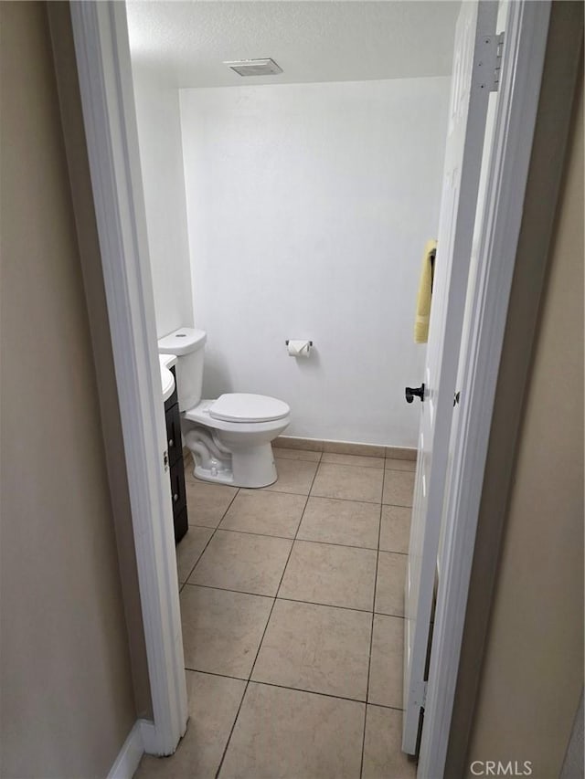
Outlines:
[[138, 141], [160, 338], [193, 323], [178, 90], [133, 63]]

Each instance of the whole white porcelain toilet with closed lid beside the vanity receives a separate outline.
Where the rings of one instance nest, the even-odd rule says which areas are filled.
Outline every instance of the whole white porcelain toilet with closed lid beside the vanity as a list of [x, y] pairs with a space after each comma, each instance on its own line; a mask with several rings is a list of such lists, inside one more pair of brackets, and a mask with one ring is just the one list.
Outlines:
[[207, 335], [182, 327], [158, 342], [176, 355], [181, 429], [195, 462], [195, 476], [234, 487], [266, 487], [276, 481], [271, 441], [291, 421], [291, 409], [267, 395], [229, 393], [201, 400]]

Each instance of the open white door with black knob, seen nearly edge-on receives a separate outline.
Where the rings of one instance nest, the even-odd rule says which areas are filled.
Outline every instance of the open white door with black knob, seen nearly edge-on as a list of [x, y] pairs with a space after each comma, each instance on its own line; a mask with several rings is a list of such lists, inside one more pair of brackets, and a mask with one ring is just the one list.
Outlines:
[[410, 754], [417, 750], [426, 692], [425, 669], [453, 395], [487, 103], [490, 91], [494, 89], [496, 16], [495, 2], [463, 3], [455, 33], [429, 343], [422, 377], [419, 461], [405, 584], [402, 749]]

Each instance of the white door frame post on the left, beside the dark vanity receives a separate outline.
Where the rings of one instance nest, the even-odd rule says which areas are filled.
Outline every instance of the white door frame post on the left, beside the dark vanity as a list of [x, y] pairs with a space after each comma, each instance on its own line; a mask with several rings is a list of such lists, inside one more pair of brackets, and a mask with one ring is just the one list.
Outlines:
[[173, 510], [125, 5], [69, 4], [144, 623], [153, 721], [144, 751], [172, 754], [186, 731], [186, 674]]

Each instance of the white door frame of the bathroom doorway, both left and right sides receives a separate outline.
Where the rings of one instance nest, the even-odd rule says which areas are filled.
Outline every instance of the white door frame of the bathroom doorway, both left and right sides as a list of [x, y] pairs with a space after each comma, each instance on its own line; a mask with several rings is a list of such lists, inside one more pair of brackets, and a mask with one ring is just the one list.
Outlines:
[[[550, 0], [510, 4], [495, 142], [484, 205], [481, 279], [466, 354], [448, 532], [431, 650], [418, 775], [442, 774], [473, 558], [485, 452], [514, 270]], [[154, 300], [125, 5], [70, 3], [91, 184], [128, 468], [153, 701], [144, 749], [170, 754], [186, 730], [186, 679]], [[488, 315], [489, 312], [489, 315]], [[441, 680], [439, 684], [437, 679]]]

